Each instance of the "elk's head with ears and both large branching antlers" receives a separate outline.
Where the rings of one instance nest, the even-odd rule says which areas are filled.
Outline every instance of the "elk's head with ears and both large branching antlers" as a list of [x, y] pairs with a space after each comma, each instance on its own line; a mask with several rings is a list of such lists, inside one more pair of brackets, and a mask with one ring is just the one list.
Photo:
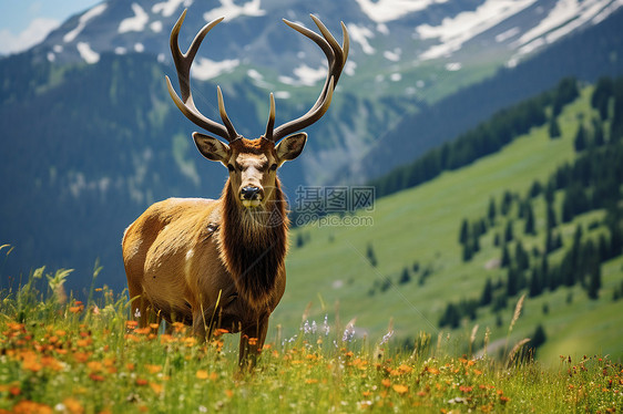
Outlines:
[[223, 93], [217, 86], [218, 112], [223, 123], [214, 122], [204, 116], [195, 106], [191, 93], [191, 65], [205, 35], [218, 24], [223, 18], [207, 23], [195, 37], [188, 51], [182, 53], [178, 46], [178, 34], [186, 10], [182, 13], [171, 33], [171, 52], [177, 70], [180, 90], [182, 97], [173, 89], [168, 76], [166, 82], [171, 97], [188, 120], [195, 125], [223, 138], [225, 142], [195, 132], [194, 142], [200, 153], [211, 161], [221, 162], [229, 170], [229, 190], [236, 194], [236, 199], [246, 208], [256, 208], [265, 205], [266, 200], [274, 199], [274, 190], [278, 188], [276, 177], [277, 168], [286, 161], [295, 159], [303, 151], [307, 141], [307, 134], [298, 131], [318, 121], [329, 108], [334, 87], [337, 84], [341, 70], [346, 63], [349, 49], [348, 32], [341, 23], [344, 44], [340, 46], [327, 28], [318, 18], [312, 19], [318, 27], [320, 33], [306, 29], [299, 24], [284, 22], [313, 40], [323, 50], [328, 60], [328, 73], [325, 85], [318, 100], [312, 108], [300, 117], [275, 127], [275, 97], [270, 93], [270, 111], [266, 132], [259, 138], [246, 139], [241, 136], [227, 116]]

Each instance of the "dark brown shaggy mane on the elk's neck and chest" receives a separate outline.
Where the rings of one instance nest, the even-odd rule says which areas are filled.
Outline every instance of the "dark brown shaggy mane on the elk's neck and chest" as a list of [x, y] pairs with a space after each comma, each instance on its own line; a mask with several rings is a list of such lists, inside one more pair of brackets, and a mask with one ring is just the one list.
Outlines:
[[238, 294], [252, 307], [268, 306], [276, 276], [285, 270], [288, 218], [279, 179], [273, 199], [255, 209], [242, 207], [229, 182], [225, 185], [221, 259], [232, 273]]

